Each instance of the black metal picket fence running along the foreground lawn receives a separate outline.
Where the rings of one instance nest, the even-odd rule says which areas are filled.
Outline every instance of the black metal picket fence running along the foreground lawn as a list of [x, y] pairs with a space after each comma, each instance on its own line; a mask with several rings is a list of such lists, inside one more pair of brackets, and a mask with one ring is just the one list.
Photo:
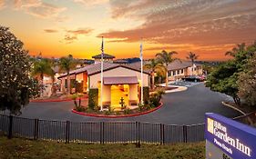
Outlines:
[[9, 138], [73, 143], [174, 144], [204, 140], [204, 124], [169, 125], [139, 122], [62, 122], [0, 115], [0, 134]]

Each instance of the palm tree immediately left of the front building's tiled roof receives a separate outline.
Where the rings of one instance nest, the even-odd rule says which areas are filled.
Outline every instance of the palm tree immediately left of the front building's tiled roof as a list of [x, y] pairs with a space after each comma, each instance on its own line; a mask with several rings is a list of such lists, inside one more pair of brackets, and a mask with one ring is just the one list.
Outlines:
[[76, 68], [76, 62], [72, 55], [67, 55], [67, 57], [61, 57], [59, 59], [59, 71], [67, 72], [67, 94], [70, 94], [70, 71]]

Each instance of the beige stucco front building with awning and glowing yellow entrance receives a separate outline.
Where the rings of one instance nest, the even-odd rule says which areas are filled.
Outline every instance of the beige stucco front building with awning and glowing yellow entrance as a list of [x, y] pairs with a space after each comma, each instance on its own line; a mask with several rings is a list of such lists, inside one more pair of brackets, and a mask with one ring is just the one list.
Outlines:
[[[87, 93], [91, 88], [98, 89], [100, 99], [101, 64], [87, 65], [70, 72], [72, 93]], [[148, 86], [149, 73], [143, 72], [143, 86]], [[67, 74], [58, 77], [61, 91], [67, 92]], [[79, 86], [77, 86], [79, 85]], [[138, 104], [141, 86], [140, 70], [132, 65], [118, 65], [105, 62], [103, 65], [103, 104], [118, 107], [124, 98], [126, 105]], [[79, 88], [78, 88], [79, 87]]]

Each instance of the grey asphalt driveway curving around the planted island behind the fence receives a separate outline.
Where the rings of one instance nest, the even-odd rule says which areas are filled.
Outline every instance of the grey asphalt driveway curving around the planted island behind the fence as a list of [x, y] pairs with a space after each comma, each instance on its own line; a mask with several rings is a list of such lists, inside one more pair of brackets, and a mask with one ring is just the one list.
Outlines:
[[31, 103], [23, 110], [22, 117], [61, 121], [138, 121], [162, 124], [200, 124], [204, 122], [207, 112], [223, 114], [227, 117], [240, 115], [225, 107], [221, 101], [227, 98], [224, 94], [211, 92], [202, 83], [190, 86], [188, 90], [165, 94], [164, 105], [151, 114], [136, 117], [105, 119], [71, 113], [73, 102]]

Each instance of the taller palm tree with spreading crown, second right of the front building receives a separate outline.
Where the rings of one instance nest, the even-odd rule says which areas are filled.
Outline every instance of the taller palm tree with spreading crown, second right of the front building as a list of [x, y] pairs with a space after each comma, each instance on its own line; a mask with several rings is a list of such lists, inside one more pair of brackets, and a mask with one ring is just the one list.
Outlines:
[[165, 66], [165, 71], [166, 71], [166, 86], [168, 86], [168, 66], [170, 63], [172, 63], [175, 60], [179, 60], [178, 58], [173, 58], [173, 55], [178, 54], [175, 51], [171, 51], [171, 52], [166, 52], [165, 50], [163, 50], [161, 53], [158, 53], [157, 56], [157, 60], [159, 61], [160, 64]]

